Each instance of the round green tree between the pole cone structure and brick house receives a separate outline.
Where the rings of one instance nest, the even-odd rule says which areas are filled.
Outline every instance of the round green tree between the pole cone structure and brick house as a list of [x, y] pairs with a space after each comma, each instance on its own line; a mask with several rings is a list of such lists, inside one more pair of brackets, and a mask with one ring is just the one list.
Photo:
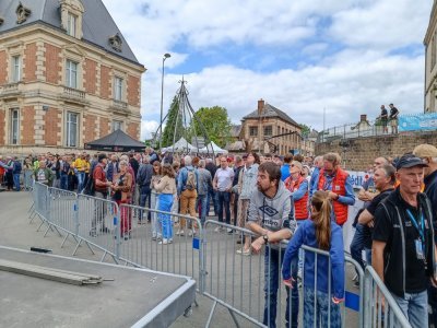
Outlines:
[[214, 141], [220, 147], [225, 147], [231, 141], [231, 129], [232, 124], [227, 116], [227, 110], [220, 106], [199, 108], [194, 114], [194, 119], [192, 119], [190, 127], [193, 136], [193, 131], [196, 131], [197, 136], [203, 137], [205, 131], [205, 138], [209, 139], [205, 142]]

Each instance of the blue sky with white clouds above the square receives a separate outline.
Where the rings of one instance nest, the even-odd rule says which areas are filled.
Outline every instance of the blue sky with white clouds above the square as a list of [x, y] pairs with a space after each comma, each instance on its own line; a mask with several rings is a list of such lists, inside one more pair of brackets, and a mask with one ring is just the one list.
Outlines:
[[160, 122], [180, 81], [200, 107], [233, 124], [258, 99], [321, 130], [374, 119], [380, 105], [423, 113], [423, 39], [433, 0], [103, 0], [147, 69], [141, 138]]

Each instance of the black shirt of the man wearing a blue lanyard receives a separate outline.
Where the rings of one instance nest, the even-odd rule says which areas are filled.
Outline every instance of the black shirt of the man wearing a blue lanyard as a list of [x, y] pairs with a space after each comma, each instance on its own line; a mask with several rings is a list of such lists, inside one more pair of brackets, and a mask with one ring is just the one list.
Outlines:
[[[420, 234], [417, 229], [412, 223], [411, 219], [406, 214], [406, 210], [410, 210], [413, 216], [415, 218], [416, 222], [420, 222], [420, 212], [423, 211], [422, 209], [413, 208], [408, 202], [405, 202], [400, 192], [399, 188], [394, 191], [397, 194], [397, 204], [399, 206], [399, 212], [401, 215], [401, 220], [403, 221], [404, 225], [404, 241], [405, 241], [405, 292], [406, 293], [420, 293], [426, 290], [428, 284], [428, 277], [425, 271], [425, 262], [421, 259], [417, 259], [416, 256], [416, 248], [415, 248], [415, 241], [420, 238]], [[418, 203], [418, 200], [417, 200]], [[385, 268], [386, 261], [388, 260], [388, 255], [394, 256], [398, 254], [393, 248], [402, 247], [402, 245], [391, 245], [392, 237], [393, 237], [393, 222], [397, 218], [389, 218], [385, 209], [378, 207], [376, 212], [377, 220], [375, 221], [375, 229], [373, 234], [374, 241], [385, 242], [387, 243], [385, 249]], [[425, 218], [426, 220], [426, 218]], [[426, 224], [427, 226], [427, 224]], [[425, 232], [426, 233], [426, 232]], [[390, 251], [393, 249], [393, 251]], [[386, 274], [401, 274], [402, 272], [385, 272]], [[387, 276], [386, 276], [387, 277]], [[387, 279], [387, 278], [386, 278]]]

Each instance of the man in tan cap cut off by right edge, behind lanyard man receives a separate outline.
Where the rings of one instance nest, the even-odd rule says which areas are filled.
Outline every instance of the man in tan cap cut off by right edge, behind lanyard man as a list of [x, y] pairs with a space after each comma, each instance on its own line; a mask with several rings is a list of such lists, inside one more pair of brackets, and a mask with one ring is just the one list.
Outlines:
[[[425, 194], [429, 199], [430, 207], [433, 210], [434, 229], [437, 226], [437, 148], [430, 144], [417, 145], [413, 154], [422, 159], [428, 164], [428, 167], [424, 169], [424, 183]], [[436, 232], [434, 231], [434, 243], [436, 243]], [[433, 309], [433, 314], [429, 317], [430, 323], [434, 327], [437, 327], [437, 289], [433, 285], [428, 288], [428, 303]]]

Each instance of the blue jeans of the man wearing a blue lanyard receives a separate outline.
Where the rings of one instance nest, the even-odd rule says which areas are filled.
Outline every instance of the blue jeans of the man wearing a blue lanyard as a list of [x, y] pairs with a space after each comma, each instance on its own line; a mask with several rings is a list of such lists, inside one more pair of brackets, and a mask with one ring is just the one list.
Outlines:
[[[391, 293], [402, 313], [405, 315], [413, 328], [428, 327], [428, 293], [423, 291], [416, 294], [405, 293], [404, 297], [399, 297]], [[394, 324], [395, 325], [395, 324]]]

